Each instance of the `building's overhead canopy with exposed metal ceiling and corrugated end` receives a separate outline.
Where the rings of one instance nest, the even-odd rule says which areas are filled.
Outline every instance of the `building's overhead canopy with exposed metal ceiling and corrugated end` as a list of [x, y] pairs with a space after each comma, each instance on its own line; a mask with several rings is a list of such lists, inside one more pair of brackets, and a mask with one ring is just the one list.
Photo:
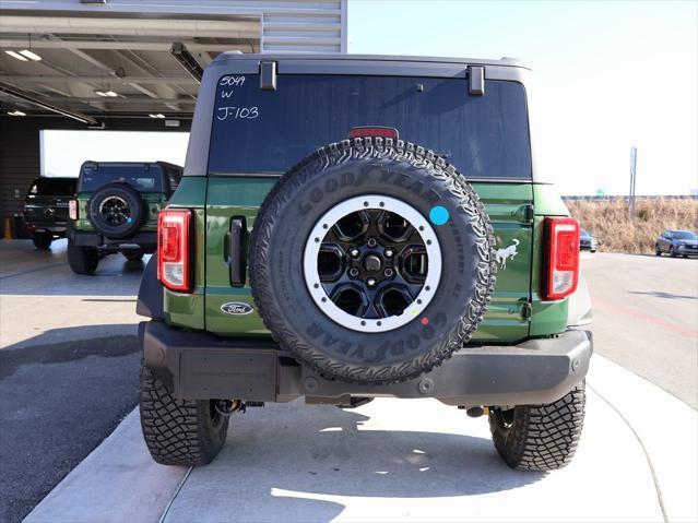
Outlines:
[[63, 110], [93, 126], [187, 118], [197, 76], [217, 54], [344, 50], [345, 9], [342, 0], [0, 1], [2, 112]]

